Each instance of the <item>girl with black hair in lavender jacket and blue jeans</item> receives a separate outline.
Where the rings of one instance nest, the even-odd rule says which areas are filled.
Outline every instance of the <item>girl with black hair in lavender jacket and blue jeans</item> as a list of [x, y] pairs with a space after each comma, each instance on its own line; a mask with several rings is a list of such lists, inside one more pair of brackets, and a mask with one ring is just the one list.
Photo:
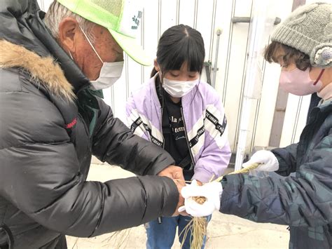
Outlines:
[[[200, 32], [186, 25], [170, 27], [160, 37], [152, 78], [127, 103], [132, 131], [165, 148], [184, 169], [185, 179], [198, 184], [222, 175], [230, 160], [223, 106], [214, 88], [200, 80], [204, 58]], [[190, 220], [179, 215], [149, 222], [146, 247], [171, 248], [177, 227], [182, 243], [181, 231]], [[190, 238], [184, 248], [190, 248]]]

